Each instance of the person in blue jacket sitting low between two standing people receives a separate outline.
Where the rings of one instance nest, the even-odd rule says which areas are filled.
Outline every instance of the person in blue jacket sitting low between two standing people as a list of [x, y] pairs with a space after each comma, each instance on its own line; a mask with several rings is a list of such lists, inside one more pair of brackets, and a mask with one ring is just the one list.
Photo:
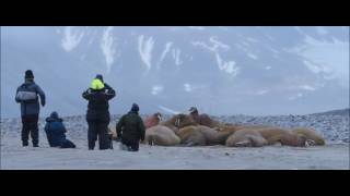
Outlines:
[[66, 138], [67, 130], [57, 112], [46, 118], [45, 132], [50, 147], [75, 148], [75, 145]]

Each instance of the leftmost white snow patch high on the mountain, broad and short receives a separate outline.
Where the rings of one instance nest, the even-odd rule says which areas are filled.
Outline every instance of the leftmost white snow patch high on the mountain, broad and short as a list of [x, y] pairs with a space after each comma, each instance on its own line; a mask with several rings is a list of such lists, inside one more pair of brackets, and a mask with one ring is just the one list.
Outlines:
[[63, 38], [61, 39], [61, 46], [66, 51], [72, 51], [78, 47], [82, 38], [84, 37], [84, 32], [74, 30], [75, 27], [67, 26], [63, 29]]

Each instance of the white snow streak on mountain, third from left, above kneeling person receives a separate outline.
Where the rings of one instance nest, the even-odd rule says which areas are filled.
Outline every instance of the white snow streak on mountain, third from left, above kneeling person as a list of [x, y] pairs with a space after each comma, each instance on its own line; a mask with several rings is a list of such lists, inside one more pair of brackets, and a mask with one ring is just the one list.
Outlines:
[[139, 53], [148, 70], [151, 70], [152, 66], [151, 61], [153, 46], [153, 37], [145, 39], [143, 35], [139, 36]]

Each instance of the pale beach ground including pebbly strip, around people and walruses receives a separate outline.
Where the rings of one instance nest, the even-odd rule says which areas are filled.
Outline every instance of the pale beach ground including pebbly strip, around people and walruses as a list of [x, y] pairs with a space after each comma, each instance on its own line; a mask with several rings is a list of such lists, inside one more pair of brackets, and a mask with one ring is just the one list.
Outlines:
[[[114, 122], [119, 115], [114, 115]], [[320, 147], [228, 148], [140, 146], [139, 152], [88, 150], [84, 117], [65, 118], [78, 149], [49, 148], [40, 120], [40, 147], [21, 147], [19, 119], [1, 122], [1, 169], [350, 169], [348, 115], [218, 117], [241, 124], [315, 127], [327, 139]], [[113, 123], [114, 123], [113, 122]]]

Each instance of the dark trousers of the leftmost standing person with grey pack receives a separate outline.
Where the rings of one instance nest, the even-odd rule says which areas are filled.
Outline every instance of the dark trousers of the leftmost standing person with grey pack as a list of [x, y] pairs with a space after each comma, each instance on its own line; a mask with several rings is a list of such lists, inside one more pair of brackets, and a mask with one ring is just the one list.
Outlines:
[[38, 114], [23, 115], [22, 117], [22, 144], [28, 145], [30, 134], [32, 137], [33, 146], [39, 143], [39, 131], [37, 127]]

